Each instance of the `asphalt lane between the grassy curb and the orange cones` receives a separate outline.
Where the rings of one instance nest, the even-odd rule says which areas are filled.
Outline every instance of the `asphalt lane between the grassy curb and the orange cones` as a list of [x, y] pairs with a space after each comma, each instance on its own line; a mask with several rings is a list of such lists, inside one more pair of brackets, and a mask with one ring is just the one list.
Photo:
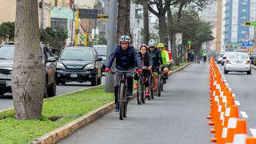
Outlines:
[[170, 76], [162, 97], [130, 102], [125, 120], [112, 111], [59, 143], [206, 144], [209, 110], [209, 65], [192, 64]]

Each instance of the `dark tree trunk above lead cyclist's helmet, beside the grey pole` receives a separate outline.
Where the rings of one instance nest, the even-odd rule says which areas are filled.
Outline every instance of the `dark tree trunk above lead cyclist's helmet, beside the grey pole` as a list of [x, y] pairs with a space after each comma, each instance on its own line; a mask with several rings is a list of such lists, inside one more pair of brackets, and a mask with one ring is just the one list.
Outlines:
[[[127, 34], [127, 11], [128, 2], [127, 0], [119, 0], [118, 2], [118, 34], [117, 42], [121, 35]], [[119, 43], [119, 42], [118, 42]]]

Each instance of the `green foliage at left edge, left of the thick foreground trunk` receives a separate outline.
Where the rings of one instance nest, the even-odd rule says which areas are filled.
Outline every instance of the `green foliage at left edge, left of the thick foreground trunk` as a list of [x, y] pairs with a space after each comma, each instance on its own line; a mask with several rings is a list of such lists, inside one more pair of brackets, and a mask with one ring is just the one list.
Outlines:
[[0, 25], [0, 42], [2, 41], [14, 41], [14, 22], [3, 22]]

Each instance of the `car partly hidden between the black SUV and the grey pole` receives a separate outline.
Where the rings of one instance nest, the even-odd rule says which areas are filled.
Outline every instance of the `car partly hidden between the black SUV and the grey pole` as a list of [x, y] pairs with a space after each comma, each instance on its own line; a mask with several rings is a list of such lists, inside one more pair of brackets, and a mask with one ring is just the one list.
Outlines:
[[106, 68], [106, 45], [94, 45], [94, 49], [97, 51], [98, 57], [102, 58], [101, 64], [102, 64], [102, 72], [105, 71]]

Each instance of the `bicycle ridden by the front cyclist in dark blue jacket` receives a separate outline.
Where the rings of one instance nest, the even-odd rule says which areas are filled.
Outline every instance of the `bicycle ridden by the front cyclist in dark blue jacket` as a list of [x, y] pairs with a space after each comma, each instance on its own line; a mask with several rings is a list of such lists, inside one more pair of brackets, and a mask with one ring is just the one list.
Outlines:
[[121, 71], [121, 70], [110, 71], [110, 74], [115, 74], [115, 73], [122, 73], [122, 79], [119, 81], [119, 84], [118, 84], [119, 118], [120, 118], [120, 120], [122, 120], [123, 118], [126, 118], [127, 105], [128, 105], [128, 98], [127, 98], [128, 84], [127, 84], [126, 74], [134, 73], [134, 70], [132, 70], [132, 71]]

